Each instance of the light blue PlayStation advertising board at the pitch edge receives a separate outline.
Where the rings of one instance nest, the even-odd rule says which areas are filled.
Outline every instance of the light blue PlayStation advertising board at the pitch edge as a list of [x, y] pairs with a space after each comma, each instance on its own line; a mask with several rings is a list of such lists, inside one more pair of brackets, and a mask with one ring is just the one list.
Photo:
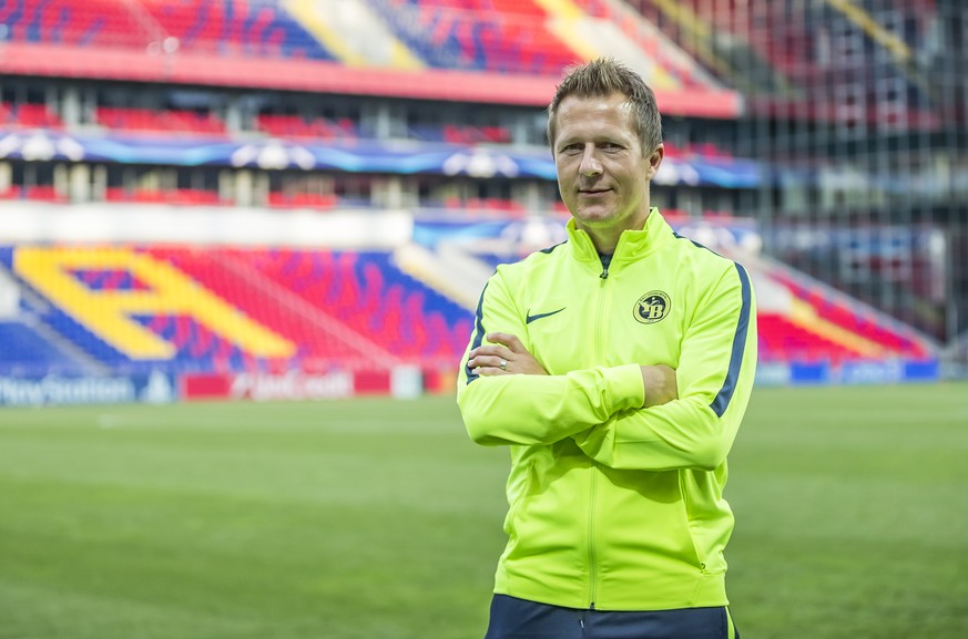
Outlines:
[[171, 403], [177, 399], [174, 379], [162, 372], [141, 375], [0, 377], [0, 405]]

